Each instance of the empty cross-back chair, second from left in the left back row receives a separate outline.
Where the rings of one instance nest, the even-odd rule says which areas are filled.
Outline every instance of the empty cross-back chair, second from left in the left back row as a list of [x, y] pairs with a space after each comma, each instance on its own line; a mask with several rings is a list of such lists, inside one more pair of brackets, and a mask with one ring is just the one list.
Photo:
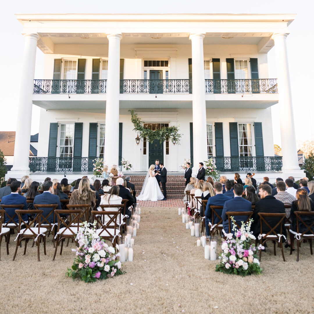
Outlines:
[[[22, 209], [16, 209], [15, 213], [19, 217], [19, 233], [18, 236], [16, 237], [16, 248], [15, 248], [15, 253], [13, 256], [13, 261], [16, 257], [16, 253], [18, 252], [18, 247], [21, 244], [23, 240], [25, 240], [25, 246], [24, 246], [24, 255], [26, 253], [26, 246], [27, 242], [30, 239], [34, 239], [34, 242], [36, 242], [37, 245], [37, 259], [38, 262], [40, 262], [40, 257], [39, 257], [39, 244], [41, 242], [41, 239], [44, 242], [44, 254], [46, 255], [46, 232], [47, 229], [44, 227], [41, 227], [41, 214], [43, 213], [43, 210], [41, 209], [33, 209], [33, 210], [22, 210]], [[25, 214], [33, 214], [35, 215], [34, 219], [32, 222], [27, 222], [25, 221], [22, 216]], [[34, 225], [34, 227], [31, 227]], [[21, 227], [25, 227], [25, 229], [21, 229]]]

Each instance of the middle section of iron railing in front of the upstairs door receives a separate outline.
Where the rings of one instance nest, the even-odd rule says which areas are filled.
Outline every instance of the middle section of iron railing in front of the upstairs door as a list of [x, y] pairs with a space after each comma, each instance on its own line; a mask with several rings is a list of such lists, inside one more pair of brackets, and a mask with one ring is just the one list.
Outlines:
[[191, 79], [121, 79], [120, 93], [175, 94], [192, 93]]

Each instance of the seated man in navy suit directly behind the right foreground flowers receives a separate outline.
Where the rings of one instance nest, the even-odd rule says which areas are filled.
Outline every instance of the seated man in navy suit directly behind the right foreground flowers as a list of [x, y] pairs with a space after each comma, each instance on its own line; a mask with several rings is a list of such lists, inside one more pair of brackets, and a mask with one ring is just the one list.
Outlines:
[[[224, 209], [222, 210], [221, 218], [223, 219], [222, 225], [225, 232], [229, 233], [229, 221], [227, 212], [250, 212], [252, 211], [252, 203], [247, 201], [246, 199], [242, 198], [244, 188], [243, 185], [240, 183], [235, 184], [233, 188], [233, 193], [235, 197], [229, 201], [226, 201], [224, 204]], [[241, 226], [241, 221], [246, 221], [247, 216], [236, 216], [235, 221], [236, 223]], [[231, 225], [231, 232], [232, 225]]]

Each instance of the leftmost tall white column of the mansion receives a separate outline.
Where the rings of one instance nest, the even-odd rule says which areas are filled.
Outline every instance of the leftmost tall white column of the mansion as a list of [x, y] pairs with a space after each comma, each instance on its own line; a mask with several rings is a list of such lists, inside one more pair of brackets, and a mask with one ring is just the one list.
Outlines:
[[[21, 84], [19, 106], [17, 110], [17, 126], [15, 133], [14, 159], [11, 171], [29, 174], [28, 159], [30, 156], [30, 127], [32, 122], [32, 94], [34, 89], [34, 75], [36, 62], [36, 47], [39, 36], [26, 34], [23, 65], [21, 71]], [[13, 176], [14, 174], [11, 174]], [[16, 176], [19, 178], [19, 175]]]

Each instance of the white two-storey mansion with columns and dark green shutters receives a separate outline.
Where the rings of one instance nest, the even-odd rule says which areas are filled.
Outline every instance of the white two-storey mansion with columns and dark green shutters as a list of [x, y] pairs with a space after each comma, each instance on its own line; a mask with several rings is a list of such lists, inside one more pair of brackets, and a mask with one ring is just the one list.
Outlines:
[[[229, 178], [304, 177], [298, 165], [286, 49], [293, 14], [17, 14], [25, 37], [13, 168], [7, 177], [77, 178], [92, 160], [168, 171], [214, 157]], [[34, 78], [36, 47], [44, 73]], [[278, 77], [269, 78], [274, 47]], [[271, 106], [280, 105], [283, 157], [274, 156]], [[38, 157], [29, 157], [32, 104], [41, 107]], [[149, 143], [179, 126], [181, 142]], [[48, 175], [47, 175], [48, 174]], [[273, 181], [273, 180], [271, 180]]]

